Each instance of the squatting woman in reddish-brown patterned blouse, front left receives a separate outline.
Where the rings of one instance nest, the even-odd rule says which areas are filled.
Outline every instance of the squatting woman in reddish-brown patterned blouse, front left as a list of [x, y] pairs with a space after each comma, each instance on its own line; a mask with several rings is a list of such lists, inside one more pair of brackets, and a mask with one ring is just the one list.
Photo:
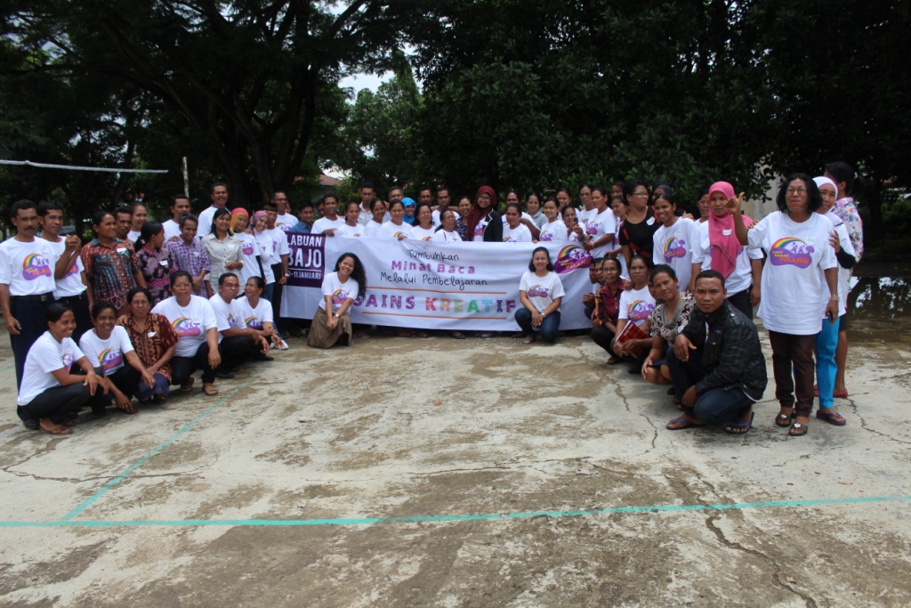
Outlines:
[[153, 387], [140, 382], [136, 398], [140, 403], [149, 399], [154, 399], [155, 403], [164, 403], [170, 392], [170, 360], [174, 356], [177, 334], [168, 318], [149, 312], [151, 294], [145, 287], [129, 290], [127, 301], [129, 312], [118, 318], [117, 324], [127, 330], [139, 361], [155, 379]]

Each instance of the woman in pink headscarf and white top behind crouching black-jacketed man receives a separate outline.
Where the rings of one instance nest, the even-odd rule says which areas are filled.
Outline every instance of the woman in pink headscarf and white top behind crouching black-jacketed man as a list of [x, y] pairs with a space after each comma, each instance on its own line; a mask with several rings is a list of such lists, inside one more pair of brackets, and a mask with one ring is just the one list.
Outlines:
[[[734, 187], [727, 181], [716, 181], [709, 189], [709, 221], [698, 225], [699, 239], [692, 247], [692, 279], [703, 270], [717, 270], [724, 275], [728, 302], [752, 319], [752, 307], [759, 304], [763, 252], [750, 250], [737, 240], [728, 201], [734, 198]], [[752, 220], [743, 216], [747, 226]], [[695, 285], [690, 284], [691, 293]]]

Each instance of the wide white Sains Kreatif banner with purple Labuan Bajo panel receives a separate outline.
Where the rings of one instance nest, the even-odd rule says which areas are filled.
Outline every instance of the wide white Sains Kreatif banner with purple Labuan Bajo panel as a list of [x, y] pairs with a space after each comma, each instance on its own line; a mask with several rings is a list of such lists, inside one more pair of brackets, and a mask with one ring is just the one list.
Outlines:
[[312, 319], [324, 273], [345, 252], [361, 260], [367, 292], [351, 308], [352, 321], [415, 329], [517, 331], [518, 283], [532, 252], [548, 248], [566, 295], [560, 329], [586, 329], [582, 294], [591, 292], [591, 256], [571, 243], [429, 242], [380, 237], [288, 234], [289, 283], [281, 315]]

